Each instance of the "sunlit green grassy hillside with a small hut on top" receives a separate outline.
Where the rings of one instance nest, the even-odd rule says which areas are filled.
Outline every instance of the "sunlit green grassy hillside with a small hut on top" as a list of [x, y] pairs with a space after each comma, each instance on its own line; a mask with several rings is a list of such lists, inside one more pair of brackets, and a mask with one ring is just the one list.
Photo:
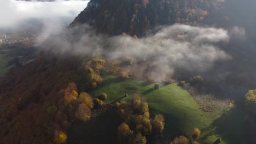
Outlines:
[[[218, 123], [217, 119], [224, 117], [224, 112], [205, 112], [191, 95], [176, 84], [162, 85], [159, 90], [153, 90], [154, 84], [144, 81], [126, 80], [119, 81], [115, 76], [105, 76], [100, 88], [91, 92], [92, 97], [98, 97], [101, 93], [108, 94], [106, 103], [114, 103], [125, 94], [130, 99], [134, 93], [139, 93], [147, 98], [151, 116], [161, 113], [165, 117], [164, 139], [158, 143], [166, 143], [178, 135], [190, 135], [195, 127], [201, 129], [201, 143], [213, 143], [218, 137], [222, 137], [222, 143], [241, 143], [239, 137], [234, 138], [234, 132], [226, 132], [229, 135], [218, 133], [219, 127], [225, 129], [230, 124]], [[239, 123], [239, 122], [237, 122]], [[228, 125], [227, 125], [228, 124]], [[227, 126], [226, 126], [227, 125]], [[238, 128], [242, 128], [239, 127]], [[236, 128], [232, 131], [238, 131]], [[240, 141], [240, 142], [239, 142]], [[155, 143], [155, 142], [154, 142]]]

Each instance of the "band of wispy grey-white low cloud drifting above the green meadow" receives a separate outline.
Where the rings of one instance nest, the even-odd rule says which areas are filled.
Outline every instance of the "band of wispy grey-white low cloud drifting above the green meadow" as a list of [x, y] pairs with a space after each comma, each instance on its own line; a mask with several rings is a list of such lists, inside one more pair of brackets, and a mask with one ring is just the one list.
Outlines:
[[[72, 39], [74, 33], [78, 39]], [[218, 47], [220, 43], [229, 43], [230, 40], [228, 31], [222, 28], [172, 25], [162, 27], [144, 38], [134, 39], [124, 35], [96, 35], [93, 29], [84, 25], [68, 29], [60, 37], [49, 40], [48, 45], [42, 48], [56, 55], [101, 52], [108, 58], [144, 59], [156, 67], [157, 71], [151, 74], [157, 80], [165, 79], [177, 68], [202, 72], [211, 69], [217, 61], [231, 59], [228, 53]]]

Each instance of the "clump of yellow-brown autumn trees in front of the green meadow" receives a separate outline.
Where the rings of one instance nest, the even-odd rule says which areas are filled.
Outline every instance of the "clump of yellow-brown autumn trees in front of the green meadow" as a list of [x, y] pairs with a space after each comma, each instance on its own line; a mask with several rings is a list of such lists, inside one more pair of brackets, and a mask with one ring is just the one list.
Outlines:
[[162, 115], [156, 115], [155, 119], [150, 121], [148, 103], [139, 94], [133, 95], [130, 101], [121, 101], [118, 107], [121, 117], [133, 130], [135, 136], [134, 141], [141, 140], [143, 143], [143, 136], [152, 134], [153, 130], [155, 134], [161, 133], [164, 129], [164, 117]]

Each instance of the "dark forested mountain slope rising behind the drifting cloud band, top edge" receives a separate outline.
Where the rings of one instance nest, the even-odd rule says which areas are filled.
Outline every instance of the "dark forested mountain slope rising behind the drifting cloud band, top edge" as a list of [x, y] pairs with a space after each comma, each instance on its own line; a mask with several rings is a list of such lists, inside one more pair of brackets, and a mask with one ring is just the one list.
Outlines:
[[98, 32], [142, 36], [161, 25], [205, 25], [221, 9], [223, 1], [91, 0], [71, 26], [88, 23]]

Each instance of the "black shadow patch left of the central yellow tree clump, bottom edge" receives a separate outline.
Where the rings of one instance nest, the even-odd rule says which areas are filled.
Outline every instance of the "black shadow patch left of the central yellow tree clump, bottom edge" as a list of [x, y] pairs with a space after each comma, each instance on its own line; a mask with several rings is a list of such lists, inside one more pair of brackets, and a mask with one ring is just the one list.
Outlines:
[[117, 143], [117, 128], [121, 119], [115, 108], [90, 121], [74, 122], [68, 130], [68, 143]]

